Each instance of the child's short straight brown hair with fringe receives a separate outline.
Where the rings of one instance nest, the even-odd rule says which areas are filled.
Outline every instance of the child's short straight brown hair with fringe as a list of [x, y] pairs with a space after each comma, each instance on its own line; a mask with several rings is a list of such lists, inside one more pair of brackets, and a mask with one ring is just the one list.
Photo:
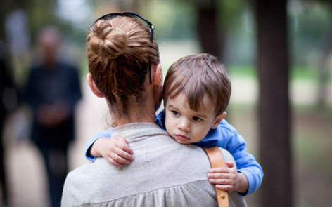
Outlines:
[[168, 69], [163, 98], [176, 98], [184, 93], [189, 107], [198, 111], [204, 95], [215, 105], [216, 116], [225, 111], [231, 96], [231, 81], [226, 68], [209, 54], [189, 55], [181, 58]]

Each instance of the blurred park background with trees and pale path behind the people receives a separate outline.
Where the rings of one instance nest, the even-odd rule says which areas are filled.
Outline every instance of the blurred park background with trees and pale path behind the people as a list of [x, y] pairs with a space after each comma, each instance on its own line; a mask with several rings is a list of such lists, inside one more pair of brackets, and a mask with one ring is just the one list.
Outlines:
[[[12, 0], [0, 3], [1, 192], [3, 206], [51, 206], [48, 173], [30, 140], [25, 102], [31, 68], [45, 56], [39, 34], [61, 35], [58, 60], [78, 69], [75, 139], [68, 168], [86, 163], [84, 145], [108, 128], [108, 109], [85, 81], [85, 38], [94, 20], [134, 11], [155, 26], [164, 75], [195, 53], [218, 56], [229, 71], [227, 120], [262, 164], [262, 187], [248, 206], [332, 203], [332, 2], [328, 0]], [[58, 83], [58, 86], [62, 85]], [[55, 155], [58, 159], [59, 156]]]

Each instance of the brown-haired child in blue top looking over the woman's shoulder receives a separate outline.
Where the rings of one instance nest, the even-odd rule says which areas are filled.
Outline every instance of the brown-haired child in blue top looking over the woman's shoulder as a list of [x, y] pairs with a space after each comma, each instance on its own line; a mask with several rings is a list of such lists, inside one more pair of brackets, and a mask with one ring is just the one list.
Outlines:
[[[158, 114], [158, 125], [181, 144], [218, 146], [228, 150], [236, 161], [227, 168], [210, 170], [210, 183], [219, 189], [252, 194], [262, 182], [262, 168], [233, 126], [226, 122], [225, 109], [231, 95], [229, 76], [217, 58], [208, 54], [189, 55], [175, 62], [167, 72], [163, 91], [165, 110]], [[109, 139], [112, 129], [91, 137], [86, 156], [103, 156], [114, 166], [134, 159], [123, 138]]]

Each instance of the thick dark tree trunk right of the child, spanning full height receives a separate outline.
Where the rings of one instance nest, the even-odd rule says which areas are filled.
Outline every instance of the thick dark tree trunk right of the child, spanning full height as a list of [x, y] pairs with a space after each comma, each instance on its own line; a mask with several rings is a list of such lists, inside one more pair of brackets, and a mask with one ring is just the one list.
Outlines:
[[260, 76], [261, 206], [293, 205], [286, 0], [255, 0]]

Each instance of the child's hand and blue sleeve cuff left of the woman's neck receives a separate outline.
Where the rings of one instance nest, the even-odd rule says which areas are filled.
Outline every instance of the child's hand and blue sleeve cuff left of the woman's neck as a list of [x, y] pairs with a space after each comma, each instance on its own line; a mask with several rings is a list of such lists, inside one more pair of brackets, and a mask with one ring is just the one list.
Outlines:
[[124, 138], [110, 138], [112, 131], [101, 131], [89, 138], [85, 145], [85, 156], [89, 161], [94, 161], [96, 156], [103, 156], [114, 166], [122, 166], [122, 163], [129, 163], [134, 159], [132, 149]]

